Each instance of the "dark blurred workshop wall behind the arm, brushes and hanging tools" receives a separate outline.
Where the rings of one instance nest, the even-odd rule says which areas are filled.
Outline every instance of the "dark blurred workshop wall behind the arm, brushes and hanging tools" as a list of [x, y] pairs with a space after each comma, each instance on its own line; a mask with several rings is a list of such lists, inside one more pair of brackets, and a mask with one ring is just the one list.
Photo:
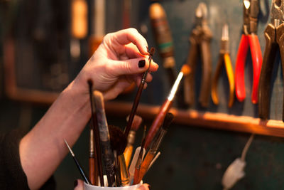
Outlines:
[[[97, 0], [100, 1], [100, 0]], [[101, 1], [102, 2], [102, 1]], [[51, 102], [72, 81], [87, 62], [105, 33], [122, 28], [136, 28], [147, 39], [149, 47], [155, 43], [149, 19], [150, 0], [106, 0], [99, 6], [94, 0], [0, 0], [0, 126], [2, 131], [15, 127], [30, 130], [44, 115]], [[173, 36], [175, 67], [178, 73], [187, 59], [188, 38], [195, 27], [195, 9], [198, 0], [164, 0], [159, 3], [167, 14]], [[204, 1], [208, 8], [208, 25], [212, 31], [211, 53], [214, 72], [219, 56], [222, 25], [229, 25], [229, 49], [235, 64], [243, 23], [242, 1]], [[264, 51], [264, 28], [269, 21], [271, 1], [261, 0], [258, 16], [258, 38]], [[97, 11], [96, 11], [97, 10]], [[79, 16], [78, 16], [79, 15]], [[143, 91], [141, 103], [159, 106], [170, 90], [162, 58], [153, 58], [160, 64], [153, 73], [153, 82]], [[282, 120], [283, 77], [279, 56], [273, 71], [271, 86], [271, 113], [273, 120]], [[278, 66], [279, 65], [279, 66]], [[200, 66], [199, 70], [200, 70]], [[199, 73], [198, 73], [199, 72]], [[197, 86], [200, 73], [197, 70]], [[257, 117], [256, 105], [250, 100], [252, 63], [246, 62], [246, 100], [227, 107], [229, 85], [222, 70], [219, 80], [220, 103], [212, 100], [207, 108], [195, 102], [192, 107], [179, 110], [220, 112], [230, 115]], [[95, 74], [95, 73], [94, 73]], [[132, 102], [136, 90], [120, 95], [114, 102]], [[197, 94], [198, 95], [198, 94]], [[119, 110], [116, 110], [119, 112]], [[109, 124], [124, 127], [126, 113], [118, 116], [107, 112]], [[150, 127], [153, 118], [144, 118]], [[87, 170], [89, 128], [86, 127], [73, 151]], [[72, 130], [72, 129], [70, 129]], [[138, 130], [136, 145], [141, 142]], [[222, 189], [222, 176], [237, 157], [241, 157], [250, 134], [214, 130], [193, 125], [173, 123], [160, 147], [161, 155], [146, 174], [144, 181], [151, 189]], [[284, 180], [284, 140], [280, 137], [256, 135], [246, 156], [246, 176], [233, 189], [282, 189]], [[39, 155], [40, 156], [40, 155]], [[68, 154], [55, 172], [58, 189], [72, 189], [80, 174]]]

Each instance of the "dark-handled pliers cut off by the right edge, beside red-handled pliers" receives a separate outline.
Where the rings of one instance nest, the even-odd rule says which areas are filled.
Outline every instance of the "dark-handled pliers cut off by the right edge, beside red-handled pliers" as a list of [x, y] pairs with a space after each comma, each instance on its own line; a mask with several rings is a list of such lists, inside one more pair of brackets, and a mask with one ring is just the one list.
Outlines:
[[[280, 49], [282, 70], [284, 74], [284, 0], [272, 1], [271, 5], [271, 23], [268, 23], [264, 36], [266, 38], [266, 48], [263, 56], [263, 65], [261, 68], [261, 78], [258, 91], [258, 115], [262, 119], [267, 119], [270, 105], [270, 87], [271, 75], [275, 54]], [[283, 105], [284, 107], [284, 105]], [[284, 120], [284, 115], [282, 116]]]

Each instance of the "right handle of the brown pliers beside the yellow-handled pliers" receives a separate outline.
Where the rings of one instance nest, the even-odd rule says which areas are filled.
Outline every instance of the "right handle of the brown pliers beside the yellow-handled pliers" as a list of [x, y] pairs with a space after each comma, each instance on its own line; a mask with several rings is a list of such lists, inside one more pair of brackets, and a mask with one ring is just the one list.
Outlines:
[[209, 104], [211, 80], [212, 80], [212, 56], [210, 49], [210, 39], [204, 36], [201, 42], [202, 51], [202, 84], [200, 88], [199, 102], [202, 107], [207, 107]]

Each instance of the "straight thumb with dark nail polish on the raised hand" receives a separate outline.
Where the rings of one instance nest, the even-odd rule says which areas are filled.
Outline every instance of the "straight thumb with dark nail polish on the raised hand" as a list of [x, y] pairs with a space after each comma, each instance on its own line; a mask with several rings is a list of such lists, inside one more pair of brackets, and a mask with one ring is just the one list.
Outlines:
[[149, 66], [148, 58], [112, 60], [111, 73], [114, 75], [133, 75], [143, 73]]

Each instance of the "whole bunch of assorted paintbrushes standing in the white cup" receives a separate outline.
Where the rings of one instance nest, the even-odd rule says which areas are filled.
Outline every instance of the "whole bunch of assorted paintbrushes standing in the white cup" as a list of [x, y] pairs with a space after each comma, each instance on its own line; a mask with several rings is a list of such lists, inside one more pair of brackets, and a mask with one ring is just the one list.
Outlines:
[[[149, 52], [149, 64], [151, 64], [153, 53], [154, 48], [151, 48]], [[168, 111], [173, 103], [175, 93], [178, 90], [183, 75], [190, 73], [190, 68], [187, 65], [182, 66], [178, 78], [175, 80], [172, 90], [170, 90], [170, 95], [168, 95], [167, 100], [165, 100], [160, 108], [160, 112], [147, 134], [146, 126], [144, 127], [141, 147], [136, 149], [130, 164], [136, 130], [138, 130], [138, 127], [142, 123], [142, 118], [136, 115], [136, 110], [144, 84], [146, 83], [147, 73], [148, 70], [143, 73], [143, 78], [138, 87], [124, 132], [119, 127], [108, 125], [104, 111], [104, 97], [99, 91], [93, 92], [93, 84], [91, 80], [88, 81], [92, 110], [89, 131], [89, 180], [84, 174], [82, 167], [80, 167], [80, 164], [78, 164], [79, 162], [75, 159], [75, 154], [72, 153], [72, 157], [76, 160], [77, 167], [80, 168], [80, 172], [86, 183], [97, 186], [128, 186], [138, 184], [153, 162], [155, 162], [155, 159], [160, 155], [158, 147], [170, 123], [173, 121], [173, 114], [168, 113]], [[145, 159], [143, 159], [143, 155], [148, 147], [150, 149]], [[70, 152], [72, 152], [71, 149]], [[107, 183], [104, 181], [104, 174], [107, 176]]]

